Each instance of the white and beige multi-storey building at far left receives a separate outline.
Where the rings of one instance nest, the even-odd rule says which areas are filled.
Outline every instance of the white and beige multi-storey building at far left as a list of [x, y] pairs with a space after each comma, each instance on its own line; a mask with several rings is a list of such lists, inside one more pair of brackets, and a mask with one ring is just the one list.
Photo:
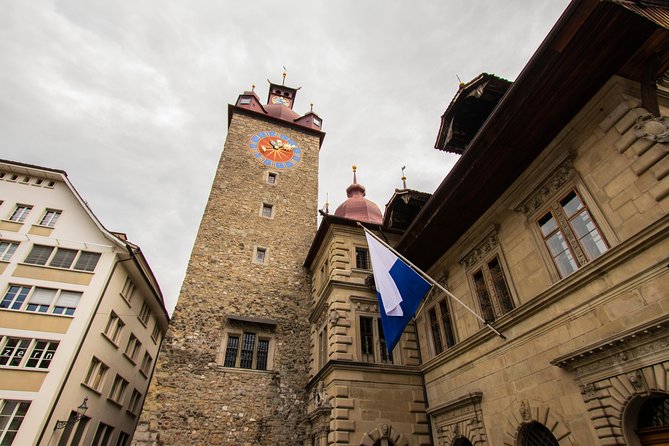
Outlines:
[[0, 444], [129, 444], [169, 318], [65, 172], [0, 161], [0, 293]]

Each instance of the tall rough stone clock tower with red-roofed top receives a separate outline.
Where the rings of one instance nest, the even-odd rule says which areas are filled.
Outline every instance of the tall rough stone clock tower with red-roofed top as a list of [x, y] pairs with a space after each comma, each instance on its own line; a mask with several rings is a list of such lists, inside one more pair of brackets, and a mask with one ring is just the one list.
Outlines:
[[[284, 75], [285, 79], [285, 75]], [[304, 441], [321, 118], [270, 83], [228, 107], [228, 136], [158, 357], [136, 445]]]

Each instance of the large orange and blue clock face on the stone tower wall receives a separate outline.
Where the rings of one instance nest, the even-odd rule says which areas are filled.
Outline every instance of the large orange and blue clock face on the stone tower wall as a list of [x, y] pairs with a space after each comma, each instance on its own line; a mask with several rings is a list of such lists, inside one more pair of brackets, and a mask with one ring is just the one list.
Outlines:
[[275, 169], [288, 169], [302, 160], [300, 148], [283, 133], [258, 132], [251, 136], [249, 149], [256, 161]]

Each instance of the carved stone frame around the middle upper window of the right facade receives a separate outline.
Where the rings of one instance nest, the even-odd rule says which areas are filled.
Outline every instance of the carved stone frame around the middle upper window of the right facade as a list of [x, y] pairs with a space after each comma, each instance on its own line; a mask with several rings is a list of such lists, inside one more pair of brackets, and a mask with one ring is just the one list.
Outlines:
[[[504, 311], [501, 296], [498, 295], [497, 290], [492, 282], [492, 275], [490, 272], [490, 262], [497, 259], [500, 269], [502, 270], [504, 282], [509, 293], [512, 309]], [[510, 274], [510, 268], [506, 262], [504, 251], [499, 242], [498, 227], [493, 226], [481, 241], [474, 246], [469, 252], [460, 259], [460, 265], [465, 269], [467, 275], [467, 283], [472, 292], [473, 301], [475, 303], [478, 314], [485, 319], [486, 311], [484, 311], [481, 297], [477, 291], [475, 275], [479, 272], [483, 275], [485, 281], [485, 288], [490, 300], [491, 311], [493, 318], [489, 322], [496, 321], [506, 314], [513, 311], [519, 305], [517, 293], [514, 287], [514, 281]], [[483, 323], [479, 321], [480, 326]]]

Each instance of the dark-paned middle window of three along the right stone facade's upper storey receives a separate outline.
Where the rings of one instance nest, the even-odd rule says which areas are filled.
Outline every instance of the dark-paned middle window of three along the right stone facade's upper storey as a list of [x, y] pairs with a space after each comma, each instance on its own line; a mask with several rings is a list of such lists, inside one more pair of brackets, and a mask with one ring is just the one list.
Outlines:
[[484, 262], [472, 275], [481, 313], [486, 322], [492, 322], [513, 310], [513, 300], [506, 283], [499, 257]]

